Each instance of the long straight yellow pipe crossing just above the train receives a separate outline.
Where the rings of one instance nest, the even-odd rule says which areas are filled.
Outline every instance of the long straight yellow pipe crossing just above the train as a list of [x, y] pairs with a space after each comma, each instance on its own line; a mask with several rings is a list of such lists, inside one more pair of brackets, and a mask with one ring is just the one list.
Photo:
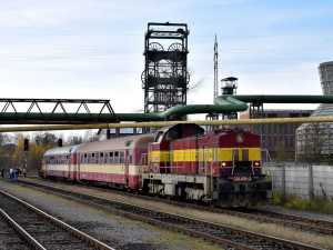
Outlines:
[[149, 128], [165, 127], [179, 123], [195, 123], [199, 126], [228, 126], [228, 124], [269, 124], [269, 123], [317, 123], [333, 122], [333, 117], [307, 118], [271, 118], [271, 119], [242, 119], [242, 120], [203, 120], [203, 121], [158, 121], [158, 122], [129, 122], [129, 123], [99, 123], [99, 124], [69, 124], [69, 126], [30, 126], [2, 127], [0, 132], [23, 132], [43, 130], [75, 130], [75, 129], [105, 129], [105, 128]]

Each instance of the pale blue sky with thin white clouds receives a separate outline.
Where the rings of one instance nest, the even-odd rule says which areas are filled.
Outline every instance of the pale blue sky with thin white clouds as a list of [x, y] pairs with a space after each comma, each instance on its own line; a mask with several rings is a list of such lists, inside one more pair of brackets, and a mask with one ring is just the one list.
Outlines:
[[[202, 83], [188, 104], [213, 103], [215, 34], [219, 79], [239, 78], [238, 94], [322, 94], [317, 67], [333, 61], [330, 0], [0, 0], [0, 98], [143, 110], [144, 33], [167, 21], [190, 29], [190, 84]], [[283, 107], [313, 108], [264, 106]]]

